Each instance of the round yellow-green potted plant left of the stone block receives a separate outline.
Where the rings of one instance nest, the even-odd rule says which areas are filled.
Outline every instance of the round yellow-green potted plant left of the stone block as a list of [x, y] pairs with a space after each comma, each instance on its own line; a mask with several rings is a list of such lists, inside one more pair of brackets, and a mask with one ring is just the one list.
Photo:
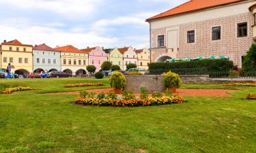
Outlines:
[[124, 74], [115, 71], [110, 77], [110, 85], [116, 94], [121, 94], [123, 88], [126, 86], [126, 78]]

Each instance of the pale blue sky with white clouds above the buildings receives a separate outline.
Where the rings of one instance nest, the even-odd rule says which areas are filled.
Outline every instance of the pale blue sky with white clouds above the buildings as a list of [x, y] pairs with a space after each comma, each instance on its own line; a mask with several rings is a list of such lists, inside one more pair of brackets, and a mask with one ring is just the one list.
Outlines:
[[145, 22], [188, 0], [0, 0], [0, 41], [149, 48]]

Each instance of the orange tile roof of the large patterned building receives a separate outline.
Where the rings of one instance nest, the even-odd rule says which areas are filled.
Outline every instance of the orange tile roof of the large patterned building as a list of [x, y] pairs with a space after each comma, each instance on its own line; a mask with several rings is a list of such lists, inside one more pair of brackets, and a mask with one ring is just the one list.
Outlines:
[[173, 15], [177, 15], [177, 14], [194, 12], [194, 11], [198, 11], [198, 10], [208, 9], [211, 7], [228, 5], [231, 3], [238, 3], [240, 1], [246, 1], [246, 0], [190, 0], [186, 3], [183, 3], [182, 5], [179, 5], [177, 7], [174, 7], [171, 10], [168, 10], [167, 12], [163, 12], [163, 13], [153, 16], [151, 18], [147, 18], [146, 21], [150, 22], [151, 20], [155, 20], [158, 18], [164, 18], [167, 16], [173, 16]]

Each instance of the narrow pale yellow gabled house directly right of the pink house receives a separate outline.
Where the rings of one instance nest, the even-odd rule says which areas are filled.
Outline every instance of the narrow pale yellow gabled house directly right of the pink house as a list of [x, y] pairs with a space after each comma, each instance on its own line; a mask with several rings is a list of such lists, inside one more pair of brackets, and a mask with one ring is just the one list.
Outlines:
[[109, 51], [109, 61], [112, 65], [118, 65], [122, 70], [124, 70], [124, 55], [117, 48]]

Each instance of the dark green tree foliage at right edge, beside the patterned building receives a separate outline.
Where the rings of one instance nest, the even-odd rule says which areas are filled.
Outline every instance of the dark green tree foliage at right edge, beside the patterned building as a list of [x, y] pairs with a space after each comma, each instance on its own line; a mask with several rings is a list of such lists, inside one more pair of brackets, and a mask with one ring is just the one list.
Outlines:
[[242, 71], [256, 71], [256, 44], [252, 44], [244, 57]]

